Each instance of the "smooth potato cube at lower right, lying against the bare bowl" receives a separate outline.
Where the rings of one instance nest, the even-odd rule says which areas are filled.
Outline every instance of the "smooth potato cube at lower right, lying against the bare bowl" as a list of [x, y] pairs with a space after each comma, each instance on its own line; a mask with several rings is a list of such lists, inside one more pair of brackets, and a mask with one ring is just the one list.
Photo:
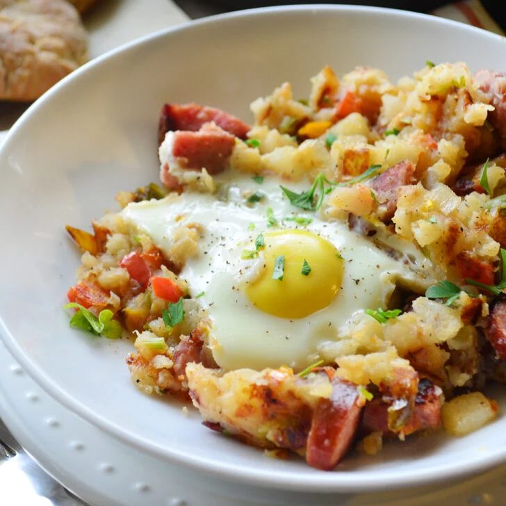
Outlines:
[[481, 392], [466, 393], [446, 402], [441, 411], [443, 427], [452, 436], [465, 436], [497, 416], [498, 405]]

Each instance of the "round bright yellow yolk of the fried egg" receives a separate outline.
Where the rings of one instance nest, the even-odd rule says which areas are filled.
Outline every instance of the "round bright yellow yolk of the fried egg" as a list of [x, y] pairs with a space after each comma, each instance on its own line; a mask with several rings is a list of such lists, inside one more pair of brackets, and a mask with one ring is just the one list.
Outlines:
[[[343, 260], [332, 243], [304, 230], [268, 232], [263, 238], [263, 263], [245, 285], [255, 307], [280, 318], [304, 318], [334, 300], [343, 279]], [[283, 279], [272, 279], [279, 256], [284, 256]], [[304, 260], [311, 269], [307, 275]]]

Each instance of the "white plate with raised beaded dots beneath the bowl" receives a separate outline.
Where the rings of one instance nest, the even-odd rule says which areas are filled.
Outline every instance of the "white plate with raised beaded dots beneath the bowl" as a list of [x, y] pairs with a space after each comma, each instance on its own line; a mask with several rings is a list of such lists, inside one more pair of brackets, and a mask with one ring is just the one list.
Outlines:
[[[96, 506], [501, 506], [506, 466], [443, 486], [357, 494], [275, 491], [231, 484], [118, 443], [49, 397], [0, 342], [0, 416], [56, 480]], [[26, 482], [0, 466], [8, 506], [31, 504]]]

